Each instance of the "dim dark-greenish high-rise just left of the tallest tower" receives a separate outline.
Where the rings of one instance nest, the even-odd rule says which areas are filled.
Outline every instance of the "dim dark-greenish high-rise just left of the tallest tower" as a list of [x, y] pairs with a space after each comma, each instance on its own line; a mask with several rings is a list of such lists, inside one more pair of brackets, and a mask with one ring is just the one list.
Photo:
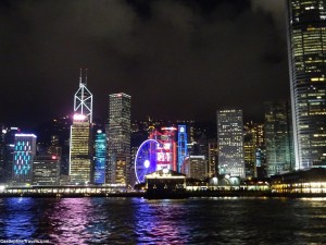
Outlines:
[[288, 103], [266, 102], [264, 124], [267, 175], [291, 171], [293, 157]]

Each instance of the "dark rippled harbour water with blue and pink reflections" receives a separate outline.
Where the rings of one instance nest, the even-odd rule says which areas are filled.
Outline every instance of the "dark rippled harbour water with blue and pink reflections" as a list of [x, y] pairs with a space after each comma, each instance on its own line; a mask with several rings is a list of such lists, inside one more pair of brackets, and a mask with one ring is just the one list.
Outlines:
[[326, 244], [323, 198], [1, 198], [0, 242]]

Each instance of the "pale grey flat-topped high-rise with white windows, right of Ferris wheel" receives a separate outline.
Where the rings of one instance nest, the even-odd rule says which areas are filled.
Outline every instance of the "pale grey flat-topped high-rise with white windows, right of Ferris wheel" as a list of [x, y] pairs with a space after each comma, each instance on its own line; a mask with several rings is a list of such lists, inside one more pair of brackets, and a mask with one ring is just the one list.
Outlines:
[[217, 111], [218, 173], [244, 177], [242, 110]]

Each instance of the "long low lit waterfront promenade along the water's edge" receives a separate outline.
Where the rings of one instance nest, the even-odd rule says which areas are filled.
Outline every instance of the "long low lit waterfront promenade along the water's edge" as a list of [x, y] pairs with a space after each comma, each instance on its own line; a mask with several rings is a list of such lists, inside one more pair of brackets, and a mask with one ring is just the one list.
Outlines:
[[30, 186], [8, 187], [0, 192], [1, 197], [143, 197], [143, 198], [189, 198], [189, 197], [326, 197], [326, 193], [273, 193], [272, 191], [186, 191], [148, 195], [145, 191], [125, 191], [104, 186]]

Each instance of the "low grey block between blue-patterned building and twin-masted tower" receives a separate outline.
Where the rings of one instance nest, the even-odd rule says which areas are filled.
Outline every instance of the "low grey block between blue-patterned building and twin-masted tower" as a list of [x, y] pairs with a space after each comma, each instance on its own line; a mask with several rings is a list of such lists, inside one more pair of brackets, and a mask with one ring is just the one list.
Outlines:
[[33, 185], [60, 184], [60, 157], [55, 155], [35, 156], [33, 162]]

